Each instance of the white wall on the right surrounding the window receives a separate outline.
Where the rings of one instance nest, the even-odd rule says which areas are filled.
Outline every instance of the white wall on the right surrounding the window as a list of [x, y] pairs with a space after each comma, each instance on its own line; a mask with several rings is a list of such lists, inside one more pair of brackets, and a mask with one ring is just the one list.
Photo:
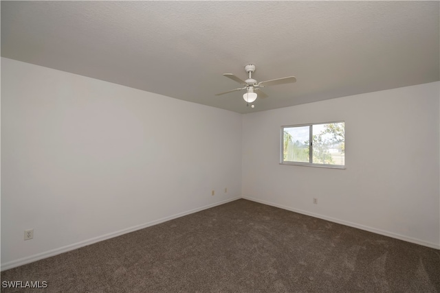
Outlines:
[[[243, 115], [243, 197], [440, 248], [439, 88]], [[345, 121], [347, 169], [279, 165], [281, 126], [327, 121]]]

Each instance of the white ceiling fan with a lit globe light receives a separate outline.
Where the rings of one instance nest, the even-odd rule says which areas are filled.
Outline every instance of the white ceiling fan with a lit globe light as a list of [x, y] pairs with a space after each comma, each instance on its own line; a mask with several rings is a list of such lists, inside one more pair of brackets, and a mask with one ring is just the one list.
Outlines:
[[224, 93], [217, 93], [216, 95], [224, 95], [225, 93], [232, 93], [233, 91], [241, 91], [245, 89], [246, 93], [243, 95], [243, 99], [249, 104], [256, 100], [257, 94], [261, 99], [267, 97], [267, 95], [263, 91], [261, 91], [261, 88], [265, 86], [275, 86], [277, 84], [290, 84], [296, 82], [296, 78], [294, 76], [289, 76], [287, 78], [277, 78], [276, 80], [266, 80], [265, 82], [257, 82], [252, 78], [252, 72], [255, 71], [255, 65], [253, 64], [246, 65], [245, 71], [249, 73], [249, 78], [247, 80], [241, 80], [232, 73], [224, 73], [223, 75], [225, 77], [230, 78], [235, 82], [238, 82], [243, 87], [239, 89], [233, 89], [232, 91], [225, 91]]

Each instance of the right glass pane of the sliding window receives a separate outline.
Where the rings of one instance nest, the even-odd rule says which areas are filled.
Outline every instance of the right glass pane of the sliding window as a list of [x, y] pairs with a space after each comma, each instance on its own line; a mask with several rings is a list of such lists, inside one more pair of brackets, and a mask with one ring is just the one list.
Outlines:
[[313, 134], [313, 163], [345, 165], [344, 122], [315, 124]]

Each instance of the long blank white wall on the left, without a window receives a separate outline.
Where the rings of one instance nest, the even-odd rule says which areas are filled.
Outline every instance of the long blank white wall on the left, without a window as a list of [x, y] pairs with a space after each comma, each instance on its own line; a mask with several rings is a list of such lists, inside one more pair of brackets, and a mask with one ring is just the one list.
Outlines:
[[239, 198], [241, 115], [1, 58], [1, 171], [5, 270]]

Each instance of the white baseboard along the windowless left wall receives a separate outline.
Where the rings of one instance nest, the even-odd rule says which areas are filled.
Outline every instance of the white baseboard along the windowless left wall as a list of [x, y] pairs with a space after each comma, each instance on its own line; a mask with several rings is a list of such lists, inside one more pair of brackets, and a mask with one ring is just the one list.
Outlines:
[[47, 257], [53, 257], [53, 256], [59, 255], [61, 253], [67, 253], [67, 251], [70, 251], [70, 250], [74, 250], [74, 249], [77, 249], [77, 248], [81, 248], [83, 246], [94, 244], [96, 242], [100, 242], [100, 241], [107, 240], [107, 239], [110, 239], [110, 238], [113, 238], [113, 237], [117, 237], [117, 236], [120, 236], [120, 235], [123, 235], [123, 234], [126, 234], [126, 233], [137, 231], [137, 230], [149, 227], [149, 226], [154, 226], [154, 225], [157, 225], [157, 224], [169, 221], [169, 220], [173, 220], [173, 219], [176, 219], [176, 218], [183, 217], [184, 215], [189, 215], [191, 213], [197, 213], [198, 211], [203, 211], [204, 209], [210, 209], [210, 208], [216, 207], [216, 206], [218, 206], [220, 204], [225, 204], [226, 202], [232, 202], [232, 201], [238, 200], [240, 198], [241, 197], [236, 197], [236, 198], [230, 198], [228, 200], [222, 200], [221, 202], [216, 202], [214, 204], [208, 204], [206, 206], [199, 207], [197, 209], [191, 209], [190, 211], [184, 211], [182, 213], [177, 213], [175, 215], [170, 215], [169, 217], [165, 217], [165, 218], [162, 218], [162, 219], [159, 219], [159, 220], [154, 220], [154, 221], [151, 221], [151, 222], [148, 222], [148, 223], [145, 223], [145, 224], [140, 224], [140, 225], [132, 226], [132, 227], [129, 227], [129, 228], [122, 229], [120, 231], [108, 233], [108, 234], [101, 235], [101, 236], [98, 236], [98, 237], [94, 237], [94, 238], [91, 238], [91, 239], [87, 239], [87, 240], [84, 240], [84, 241], [81, 241], [81, 242], [77, 242], [77, 243], [74, 243], [74, 244], [63, 246], [63, 247], [60, 247], [60, 248], [55, 248], [55, 249], [52, 249], [52, 250], [48, 250], [48, 251], [45, 251], [44, 253], [38, 253], [36, 255], [31, 255], [29, 257], [23, 257], [21, 259], [16, 259], [14, 261], [8, 261], [7, 263], [1, 263], [1, 271], [9, 270], [10, 268], [16, 268], [17, 266], [23, 266], [26, 263], [32, 263], [34, 261], [39, 261], [40, 259], [45, 259]]

